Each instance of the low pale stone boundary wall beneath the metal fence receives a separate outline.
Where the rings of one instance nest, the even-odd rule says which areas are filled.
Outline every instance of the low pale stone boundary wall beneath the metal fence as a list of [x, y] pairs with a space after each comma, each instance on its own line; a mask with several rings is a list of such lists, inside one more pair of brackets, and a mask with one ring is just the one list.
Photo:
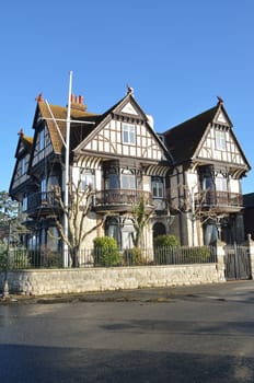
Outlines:
[[[4, 272], [0, 272], [3, 291]], [[224, 282], [220, 264], [77, 269], [27, 269], [8, 272], [10, 293], [44, 295], [119, 289]]]

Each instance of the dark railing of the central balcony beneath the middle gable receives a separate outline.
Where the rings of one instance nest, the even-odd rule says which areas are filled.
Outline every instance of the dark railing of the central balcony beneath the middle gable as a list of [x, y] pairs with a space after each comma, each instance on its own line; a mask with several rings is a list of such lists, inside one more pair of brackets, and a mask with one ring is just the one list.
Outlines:
[[94, 206], [132, 206], [141, 200], [146, 206], [152, 206], [151, 193], [136, 189], [106, 189], [96, 193]]

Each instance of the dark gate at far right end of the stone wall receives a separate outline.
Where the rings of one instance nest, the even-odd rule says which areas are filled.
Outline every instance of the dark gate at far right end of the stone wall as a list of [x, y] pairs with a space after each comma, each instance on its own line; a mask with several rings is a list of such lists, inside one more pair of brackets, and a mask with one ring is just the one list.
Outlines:
[[226, 252], [226, 279], [251, 279], [251, 259], [247, 246], [227, 245]]

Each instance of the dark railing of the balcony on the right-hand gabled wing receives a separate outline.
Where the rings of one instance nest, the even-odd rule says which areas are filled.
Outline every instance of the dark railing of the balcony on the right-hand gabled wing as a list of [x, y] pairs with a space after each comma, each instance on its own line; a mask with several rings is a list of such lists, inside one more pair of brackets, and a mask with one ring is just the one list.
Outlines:
[[197, 205], [209, 207], [242, 207], [243, 196], [239, 193], [208, 190]]

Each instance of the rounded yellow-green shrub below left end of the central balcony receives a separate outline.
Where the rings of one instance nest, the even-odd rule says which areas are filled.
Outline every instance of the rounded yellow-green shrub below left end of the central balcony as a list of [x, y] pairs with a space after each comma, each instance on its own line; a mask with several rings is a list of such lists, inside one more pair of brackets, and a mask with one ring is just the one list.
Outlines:
[[101, 266], [118, 266], [120, 256], [116, 240], [111, 236], [100, 236], [93, 241], [94, 263]]

